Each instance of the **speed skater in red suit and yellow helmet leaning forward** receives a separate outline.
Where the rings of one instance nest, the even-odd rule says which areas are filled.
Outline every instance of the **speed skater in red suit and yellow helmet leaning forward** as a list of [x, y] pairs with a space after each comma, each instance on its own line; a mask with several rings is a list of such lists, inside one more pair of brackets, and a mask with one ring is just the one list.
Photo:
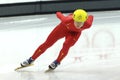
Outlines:
[[90, 28], [93, 23], [93, 15], [89, 15], [83, 9], [76, 9], [73, 13], [68, 14], [67, 16], [64, 16], [61, 12], [56, 12], [56, 16], [61, 22], [49, 34], [46, 41], [35, 50], [33, 55], [20, 63], [22, 67], [32, 64], [56, 41], [65, 38], [58, 57], [48, 66], [49, 69], [54, 70], [68, 54], [69, 49], [78, 41], [82, 31]]

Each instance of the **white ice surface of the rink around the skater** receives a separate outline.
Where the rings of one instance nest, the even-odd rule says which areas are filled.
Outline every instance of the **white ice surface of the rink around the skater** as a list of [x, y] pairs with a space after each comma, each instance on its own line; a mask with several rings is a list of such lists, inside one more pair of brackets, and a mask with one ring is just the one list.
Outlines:
[[[83, 31], [61, 65], [44, 73], [57, 58], [59, 40], [34, 66], [14, 71], [60, 22], [55, 14], [0, 18], [0, 80], [120, 80], [120, 11], [89, 12], [93, 26]], [[67, 14], [65, 14], [67, 15]]]

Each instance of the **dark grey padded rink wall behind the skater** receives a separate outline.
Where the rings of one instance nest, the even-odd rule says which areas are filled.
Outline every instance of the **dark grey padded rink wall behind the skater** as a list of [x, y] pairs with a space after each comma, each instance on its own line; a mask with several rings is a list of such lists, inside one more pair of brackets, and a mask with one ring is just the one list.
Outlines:
[[76, 8], [88, 11], [118, 10], [120, 9], [120, 0], [57, 0], [0, 4], [0, 17], [46, 14], [56, 11], [71, 12]]

